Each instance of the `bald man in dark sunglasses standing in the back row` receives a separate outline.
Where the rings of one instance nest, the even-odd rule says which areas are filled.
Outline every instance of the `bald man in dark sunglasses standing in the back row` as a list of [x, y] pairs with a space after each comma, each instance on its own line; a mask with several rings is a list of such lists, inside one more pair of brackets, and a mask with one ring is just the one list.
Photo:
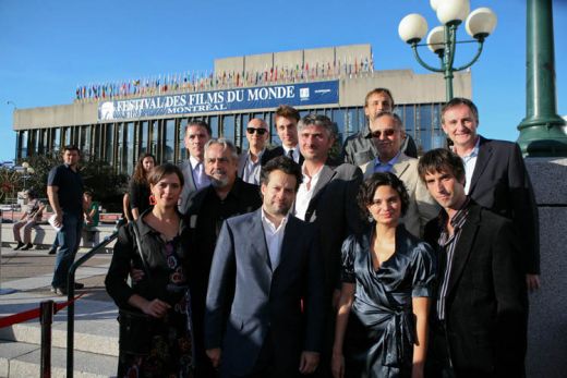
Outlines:
[[266, 150], [266, 142], [269, 137], [266, 121], [260, 118], [250, 120], [246, 126], [246, 139], [249, 149], [242, 151], [238, 163], [238, 176], [250, 184], [260, 185], [260, 169], [262, 156]]

